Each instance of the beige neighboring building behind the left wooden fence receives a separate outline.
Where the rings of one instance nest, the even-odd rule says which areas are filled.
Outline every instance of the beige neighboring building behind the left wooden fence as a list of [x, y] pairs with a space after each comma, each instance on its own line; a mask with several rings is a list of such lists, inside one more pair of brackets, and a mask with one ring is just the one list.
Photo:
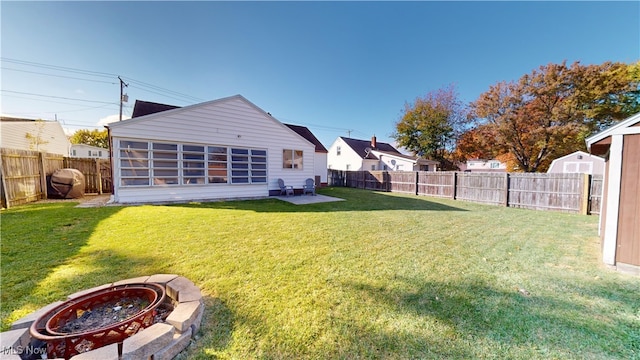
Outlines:
[[0, 117], [3, 148], [69, 155], [69, 139], [57, 121]]

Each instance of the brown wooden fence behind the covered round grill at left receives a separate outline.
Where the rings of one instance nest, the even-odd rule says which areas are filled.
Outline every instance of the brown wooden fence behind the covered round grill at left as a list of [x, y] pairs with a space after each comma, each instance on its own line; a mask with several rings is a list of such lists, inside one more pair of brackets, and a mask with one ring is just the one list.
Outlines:
[[85, 177], [85, 193], [111, 192], [109, 159], [70, 158], [37, 151], [0, 149], [2, 207], [47, 197], [47, 181], [58, 169], [78, 169]]

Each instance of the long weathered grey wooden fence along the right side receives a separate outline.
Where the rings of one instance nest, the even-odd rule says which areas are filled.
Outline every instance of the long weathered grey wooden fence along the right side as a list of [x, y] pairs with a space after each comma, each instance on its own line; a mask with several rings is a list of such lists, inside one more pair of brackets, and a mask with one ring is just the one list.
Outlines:
[[602, 199], [602, 176], [587, 174], [330, 170], [329, 185], [580, 214]]

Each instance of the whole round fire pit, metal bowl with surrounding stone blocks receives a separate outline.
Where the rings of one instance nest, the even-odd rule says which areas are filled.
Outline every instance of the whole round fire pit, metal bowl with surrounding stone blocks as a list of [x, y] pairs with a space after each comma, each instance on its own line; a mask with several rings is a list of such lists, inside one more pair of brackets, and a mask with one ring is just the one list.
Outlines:
[[194, 339], [203, 315], [202, 293], [185, 277], [119, 280], [78, 291], [13, 322], [0, 336], [0, 358], [171, 360]]

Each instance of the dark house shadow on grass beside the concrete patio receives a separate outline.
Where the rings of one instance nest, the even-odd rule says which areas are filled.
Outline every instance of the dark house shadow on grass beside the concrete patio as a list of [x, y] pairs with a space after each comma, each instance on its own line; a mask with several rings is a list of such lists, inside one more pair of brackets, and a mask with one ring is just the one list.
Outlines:
[[336, 212], [336, 211], [467, 211], [465, 209], [431, 201], [427, 197], [410, 197], [392, 193], [374, 192], [351, 188], [323, 188], [318, 194], [332, 196], [346, 201], [294, 205], [275, 198], [263, 200], [243, 200], [224, 202], [192, 202], [170, 204], [190, 208], [231, 209], [255, 212]]

